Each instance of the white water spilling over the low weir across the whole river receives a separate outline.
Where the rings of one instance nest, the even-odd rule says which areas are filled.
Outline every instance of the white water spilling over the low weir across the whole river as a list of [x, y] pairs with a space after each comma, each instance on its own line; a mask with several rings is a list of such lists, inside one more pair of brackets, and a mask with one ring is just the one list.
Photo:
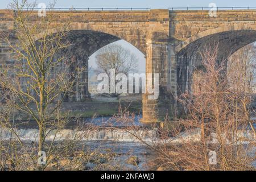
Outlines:
[[[171, 143], [183, 143], [183, 142], [199, 142], [201, 138], [201, 130], [200, 128], [192, 129], [189, 131], [181, 132], [176, 137], [170, 137], [168, 139], [159, 139], [158, 138], [158, 129], [130, 129], [130, 130], [123, 130], [123, 129], [109, 129], [109, 128], [101, 128], [95, 130], [70, 130], [70, 129], [63, 129], [63, 130], [52, 130], [47, 131], [46, 141], [62, 141], [62, 140], [117, 140], [120, 142], [139, 142], [139, 140], [143, 140], [144, 142], [171, 142]], [[14, 129], [14, 132], [11, 132], [11, 129], [3, 129], [0, 128], [0, 142], [1, 140], [17, 140], [18, 138], [16, 135], [19, 136], [20, 140], [24, 141], [32, 141], [38, 142], [39, 139], [39, 130], [38, 129]], [[217, 135], [216, 133], [210, 134], [212, 140], [208, 141], [208, 143], [217, 143]], [[225, 134], [224, 134], [225, 137]], [[250, 140], [255, 140], [253, 134], [250, 131], [238, 131], [237, 139], [240, 141], [239, 138], [247, 138]], [[234, 139], [236, 140], [236, 139]], [[226, 141], [229, 143], [230, 141]], [[239, 143], [248, 143], [241, 140]]]

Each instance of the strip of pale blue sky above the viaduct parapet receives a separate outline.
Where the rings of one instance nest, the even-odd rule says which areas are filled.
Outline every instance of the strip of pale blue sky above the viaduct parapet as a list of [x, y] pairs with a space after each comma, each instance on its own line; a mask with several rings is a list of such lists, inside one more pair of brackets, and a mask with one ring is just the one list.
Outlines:
[[[0, 9], [5, 9], [11, 0], [0, 0], [0, 2]], [[48, 3], [52, 1], [38, 0], [37, 2]], [[151, 7], [152, 9], [164, 9], [167, 7], [208, 7], [209, 3], [216, 3], [218, 7], [256, 6], [255, 0], [57, 0], [56, 7]]]

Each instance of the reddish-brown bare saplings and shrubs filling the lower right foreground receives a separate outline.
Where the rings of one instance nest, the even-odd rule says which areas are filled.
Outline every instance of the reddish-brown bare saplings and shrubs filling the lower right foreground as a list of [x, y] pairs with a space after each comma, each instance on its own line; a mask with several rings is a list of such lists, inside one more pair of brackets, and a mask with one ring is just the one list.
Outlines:
[[254, 170], [255, 131], [250, 115], [255, 112], [249, 106], [255, 64], [238, 57], [241, 65], [223, 76], [226, 64], [217, 59], [217, 45], [205, 47], [200, 54], [204, 71], [195, 71], [192, 90], [177, 98], [187, 108], [187, 117], [164, 122], [152, 142], [139, 133], [133, 135], [155, 151], [148, 164], [153, 169]]

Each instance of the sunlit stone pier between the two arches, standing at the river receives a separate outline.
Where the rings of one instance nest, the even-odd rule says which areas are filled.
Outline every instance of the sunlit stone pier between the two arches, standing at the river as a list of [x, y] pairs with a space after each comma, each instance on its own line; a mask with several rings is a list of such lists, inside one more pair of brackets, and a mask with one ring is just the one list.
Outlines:
[[[152, 94], [143, 94], [143, 119], [142, 122], [162, 121], [172, 113], [173, 97], [170, 90], [170, 43], [168, 39], [150, 39], [147, 41], [146, 54], [146, 75], [152, 74], [154, 80], [155, 74], [159, 75], [158, 97], [152, 99]], [[146, 86], [151, 86], [154, 81], [147, 80]], [[155, 93], [154, 93], [155, 94]]]

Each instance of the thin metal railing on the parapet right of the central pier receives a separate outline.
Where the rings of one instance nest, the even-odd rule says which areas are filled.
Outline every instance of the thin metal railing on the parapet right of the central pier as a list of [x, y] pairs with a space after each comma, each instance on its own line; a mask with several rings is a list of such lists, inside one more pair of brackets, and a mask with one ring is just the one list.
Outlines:
[[241, 6], [241, 7], [168, 7], [169, 10], [255, 10], [256, 6]]

